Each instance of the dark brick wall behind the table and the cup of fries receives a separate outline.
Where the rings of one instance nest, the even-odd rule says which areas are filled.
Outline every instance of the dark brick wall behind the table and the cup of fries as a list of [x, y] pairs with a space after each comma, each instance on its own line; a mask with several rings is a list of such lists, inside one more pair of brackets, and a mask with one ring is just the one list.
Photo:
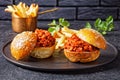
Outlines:
[[115, 20], [120, 19], [120, 0], [0, 0], [0, 20], [10, 20], [10, 14], [4, 12], [7, 5], [37, 3], [40, 11], [58, 7], [53, 13], [40, 15], [38, 20], [51, 20], [64, 17], [69, 20], [95, 20], [100, 17], [105, 19], [112, 15]]

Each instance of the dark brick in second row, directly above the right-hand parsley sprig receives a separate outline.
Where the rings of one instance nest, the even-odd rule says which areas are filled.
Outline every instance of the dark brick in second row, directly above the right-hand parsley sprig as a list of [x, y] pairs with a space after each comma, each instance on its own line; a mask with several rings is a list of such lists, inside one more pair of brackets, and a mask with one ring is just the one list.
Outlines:
[[96, 19], [98, 17], [105, 19], [106, 16], [112, 15], [114, 19], [117, 19], [117, 8], [105, 8], [105, 7], [79, 7], [78, 19]]

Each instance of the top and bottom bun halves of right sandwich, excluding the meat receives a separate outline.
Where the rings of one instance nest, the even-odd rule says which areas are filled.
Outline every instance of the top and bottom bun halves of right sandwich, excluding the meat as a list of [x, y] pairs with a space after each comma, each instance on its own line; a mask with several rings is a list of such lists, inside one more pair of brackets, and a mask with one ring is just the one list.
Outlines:
[[[106, 49], [106, 40], [104, 37], [94, 29], [83, 28], [76, 36], [87, 42], [89, 45], [95, 47], [93, 51], [75, 52], [68, 49], [64, 49], [64, 54], [71, 62], [91, 62], [95, 61], [100, 56], [100, 48]], [[71, 43], [72, 44], [72, 43]]]

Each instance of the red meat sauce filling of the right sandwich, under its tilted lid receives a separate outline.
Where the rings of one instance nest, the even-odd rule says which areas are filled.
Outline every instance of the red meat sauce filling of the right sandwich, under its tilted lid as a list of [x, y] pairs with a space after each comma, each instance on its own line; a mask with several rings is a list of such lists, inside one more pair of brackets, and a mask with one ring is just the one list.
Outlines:
[[64, 44], [64, 49], [73, 52], [92, 52], [98, 50], [98, 48], [90, 45], [89, 43], [81, 40], [75, 34], [68, 38]]

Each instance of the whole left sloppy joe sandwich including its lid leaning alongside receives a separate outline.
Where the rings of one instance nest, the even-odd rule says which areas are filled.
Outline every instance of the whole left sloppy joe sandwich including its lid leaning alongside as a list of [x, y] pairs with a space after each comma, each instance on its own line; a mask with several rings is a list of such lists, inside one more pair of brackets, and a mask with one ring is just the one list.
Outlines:
[[24, 31], [17, 34], [11, 42], [11, 54], [16, 60], [32, 56], [48, 58], [55, 49], [55, 38], [47, 30]]

